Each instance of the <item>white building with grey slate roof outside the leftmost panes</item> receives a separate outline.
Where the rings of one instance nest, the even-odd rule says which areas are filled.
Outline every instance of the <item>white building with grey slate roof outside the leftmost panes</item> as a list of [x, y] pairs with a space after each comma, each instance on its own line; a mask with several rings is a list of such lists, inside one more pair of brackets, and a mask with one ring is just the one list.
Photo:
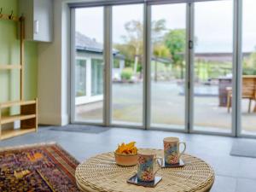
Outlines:
[[[76, 105], [84, 105], [103, 100], [103, 45], [76, 33]], [[113, 58], [119, 61], [119, 67], [113, 68], [113, 80], [121, 79], [121, 72], [125, 67], [125, 60], [118, 51], [113, 50]]]

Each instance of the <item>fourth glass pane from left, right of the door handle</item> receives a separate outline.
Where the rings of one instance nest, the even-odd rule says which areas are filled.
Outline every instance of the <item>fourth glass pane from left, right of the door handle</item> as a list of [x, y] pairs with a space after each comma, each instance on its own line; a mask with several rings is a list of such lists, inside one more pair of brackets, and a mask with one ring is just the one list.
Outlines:
[[195, 3], [196, 131], [231, 132], [232, 49], [233, 1]]

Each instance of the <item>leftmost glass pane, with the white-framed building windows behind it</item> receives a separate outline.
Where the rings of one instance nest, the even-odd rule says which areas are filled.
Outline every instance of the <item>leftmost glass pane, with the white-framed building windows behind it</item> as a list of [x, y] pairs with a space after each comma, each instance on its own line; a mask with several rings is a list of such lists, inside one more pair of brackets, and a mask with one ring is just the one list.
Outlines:
[[102, 7], [76, 9], [75, 26], [74, 120], [102, 123], [104, 67]]

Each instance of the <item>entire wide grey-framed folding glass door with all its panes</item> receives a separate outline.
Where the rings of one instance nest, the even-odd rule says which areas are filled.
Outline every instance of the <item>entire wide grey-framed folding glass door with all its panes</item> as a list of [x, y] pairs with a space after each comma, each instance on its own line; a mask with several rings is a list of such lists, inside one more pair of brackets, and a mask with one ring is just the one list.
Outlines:
[[73, 122], [256, 135], [254, 0], [122, 3], [72, 8]]

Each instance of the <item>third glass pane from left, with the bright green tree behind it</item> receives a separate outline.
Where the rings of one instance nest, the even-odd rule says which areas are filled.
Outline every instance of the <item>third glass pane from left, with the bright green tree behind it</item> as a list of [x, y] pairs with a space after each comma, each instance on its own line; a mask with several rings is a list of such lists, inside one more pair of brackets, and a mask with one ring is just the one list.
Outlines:
[[152, 6], [151, 126], [184, 129], [186, 4]]

